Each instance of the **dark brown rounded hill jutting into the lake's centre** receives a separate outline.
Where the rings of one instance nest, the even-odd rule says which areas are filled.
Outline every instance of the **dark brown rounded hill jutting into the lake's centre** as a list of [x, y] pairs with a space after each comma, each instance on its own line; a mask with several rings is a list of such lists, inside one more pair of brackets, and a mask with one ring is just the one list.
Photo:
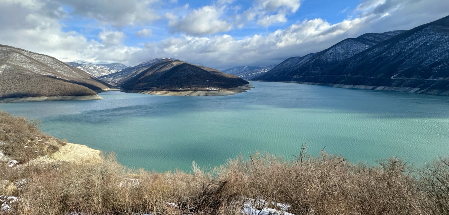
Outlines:
[[207, 91], [229, 89], [249, 82], [181, 60], [164, 61], [121, 83], [127, 90]]

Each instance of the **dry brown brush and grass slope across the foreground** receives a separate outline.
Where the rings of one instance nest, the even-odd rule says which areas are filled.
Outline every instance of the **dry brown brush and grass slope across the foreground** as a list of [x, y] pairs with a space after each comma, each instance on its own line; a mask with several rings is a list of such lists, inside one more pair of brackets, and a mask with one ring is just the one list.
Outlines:
[[[25, 157], [23, 146], [41, 135], [24, 118], [0, 112], [0, 141], [17, 146], [3, 146], [5, 153]], [[0, 194], [17, 197], [0, 196], [0, 205], [10, 206], [0, 214], [242, 215], [245, 203], [259, 210], [288, 204], [295, 215], [449, 214], [449, 159], [422, 168], [400, 159], [370, 166], [298, 150], [292, 160], [256, 153], [211, 171], [194, 164], [191, 173], [127, 169], [113, 156], [100, 163], [0, 162], [0, 182], [9, 185]]]

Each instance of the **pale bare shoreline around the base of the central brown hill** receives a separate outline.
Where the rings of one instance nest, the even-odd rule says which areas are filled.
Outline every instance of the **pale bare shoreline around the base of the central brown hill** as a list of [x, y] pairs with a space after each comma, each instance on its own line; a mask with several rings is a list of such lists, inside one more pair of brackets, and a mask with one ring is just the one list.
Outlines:
[[122, 90], [124, 93], [140, 93], [148, 95], [176, 95], [176, 96], [225, 96], [247, 92], [254, 88], [251, 84], [237, 86], [229, 89], [214, 91], [172, 91], [172, 90]]

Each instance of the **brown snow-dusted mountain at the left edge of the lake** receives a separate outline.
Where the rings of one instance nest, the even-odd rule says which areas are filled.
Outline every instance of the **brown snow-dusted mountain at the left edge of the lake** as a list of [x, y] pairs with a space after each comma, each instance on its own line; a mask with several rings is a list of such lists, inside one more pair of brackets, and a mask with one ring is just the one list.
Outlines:
[[0, 98], [2, 99], [96, 96], [95, 91], [102, 91], [109, 87], [109, 84], [83, 70], [51, 56], [0, 45]]

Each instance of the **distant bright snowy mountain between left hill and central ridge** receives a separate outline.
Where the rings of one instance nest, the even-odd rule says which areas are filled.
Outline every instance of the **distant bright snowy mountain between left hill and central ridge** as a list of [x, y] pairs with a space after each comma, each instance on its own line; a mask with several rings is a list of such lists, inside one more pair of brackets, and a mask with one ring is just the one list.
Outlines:
[[108, 75], [110, 73], [115, 73], [122, 69], [128, 68], [127, 66], [125, 66], [123, 64], [119, 64], [119, 63], [91, 64], [91, 63], [84, 62], [84, 61], [77, 61], [77, 62], [66, 62], [66, 64], [69, 64], [70, 66], [81, 69], [84, 72], [89, 73], [95, 77]]

